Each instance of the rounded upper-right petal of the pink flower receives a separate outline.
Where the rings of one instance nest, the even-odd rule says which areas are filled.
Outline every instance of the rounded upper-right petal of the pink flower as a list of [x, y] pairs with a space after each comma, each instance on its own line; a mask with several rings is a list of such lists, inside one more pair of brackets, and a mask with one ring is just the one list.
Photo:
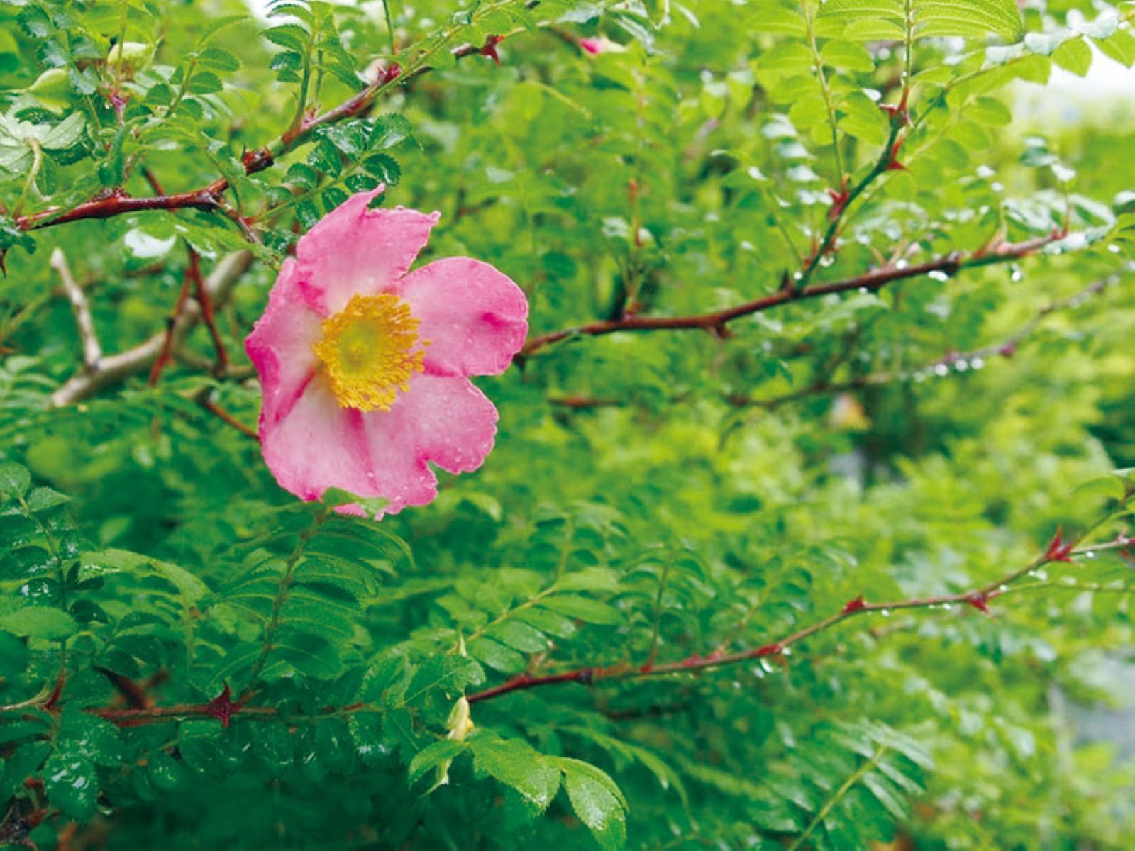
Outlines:
[[446, 258], [403, 278], [400, 295], [429, 340], [426, 368], [456, 376], [495, 376], [508, 369], [528, 336], [528, 300], [488, 263]]

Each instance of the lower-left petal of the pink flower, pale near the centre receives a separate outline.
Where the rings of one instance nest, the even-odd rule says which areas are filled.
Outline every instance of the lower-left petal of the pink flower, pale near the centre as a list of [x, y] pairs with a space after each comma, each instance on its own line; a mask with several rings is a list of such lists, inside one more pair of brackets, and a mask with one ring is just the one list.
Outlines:
[[361, 416], [339, 407], [320, 374], [281, 416], [261, 416], [260, 446], [276, 481], [301, 499], [319, 499], [328, 488], [376, 495]]

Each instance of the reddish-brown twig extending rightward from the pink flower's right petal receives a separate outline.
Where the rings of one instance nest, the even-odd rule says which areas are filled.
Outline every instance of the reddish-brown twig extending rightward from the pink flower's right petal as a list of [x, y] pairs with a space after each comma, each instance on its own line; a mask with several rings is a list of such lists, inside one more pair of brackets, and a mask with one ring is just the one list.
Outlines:
[[957, 275], [962, 269], [969, 269], [978, 266], [990, 266], [993, 263], [1003, 263], [1010, 260], [1019, 260], [1020, 258], [1040, 251], [1045, 245], [1053, 243], [1063, 236], [1066, 235], [1061, 231], [1052, 231], [1045, 236], [1039, 236], [1020, 243], [1001, 243], [993, 248], [972, 252], [969, 254], [952, 252], [944, 256], [928, 260], [925, 263], [916, 263], [914, 266], [907, 266], [902, 262], [888, 264], [880, 267], [878, 269], [864, 272], [863, 275], [857, 275], [854, 278], [844, 278], [843, 280], [831, 281], [827, 284], [813, 284], [804, 289], [794, 288], [791, 280], [789, 280], [785, 286], [781, 286], [773, 293], [768, 293], [767, 295], [763, 295], [750, 302], [743, 302], [742, 304], [725, 307], [724, 310], [714, 311], [712, 313], [696, 313], [687, 317], [632, 315], [623, 319], [589, 322], [574, 328], [549, 331], [547, 334], [531, 337], [520, 351], [519, 356], [530, 356], [541, 348], [569, 337], [596, 337], [606, 334], [615, 334], [617, 331], [708, 330], [720, 334], [725, 329], [725, 326], [729, 322], [732, 322], [735, 319], [772, 310], [773, 307], [779, 307], [782, 304], [789, 304], [805, 298], [817, 298], [833, 293], [844, 293], [850, 289], [877, 292], [893, 281], [906, 280], [908, 278], [919, 278], [924, 275], [930, 275], [931, 272]]

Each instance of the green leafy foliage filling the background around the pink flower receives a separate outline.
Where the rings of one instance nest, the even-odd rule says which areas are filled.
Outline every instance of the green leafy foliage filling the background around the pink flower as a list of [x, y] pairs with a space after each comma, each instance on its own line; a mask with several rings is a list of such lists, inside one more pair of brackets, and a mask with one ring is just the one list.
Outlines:
[[[1132, 559], [1083, 550], [1133, 490], [1133, 116], [1049, 86], [1129, 68], [1133, 17], [0, 5], [0, 843], [1129, 848]], [[208, 209], [45, 226], [219, 176]], [[255, 421], [241, 340], [275, 269], [379, 182], [442, 211], [420, 262], [524, 288], [533, 337], [952, 260], [543, 346], [479, 382], [485, 466], [375, 523], [297, 504], [216, 412]], [[144, 362], [65, 393], [101, 381], [60, 269], [104, 365], [160, 339], [191, 253], [249, 267], [217, 305], [230, 366], [199, 325], [155, 386]], [[1101, 519], [990, 616], [872, 612], [706, 662], [860, 596], [983, 588]]]

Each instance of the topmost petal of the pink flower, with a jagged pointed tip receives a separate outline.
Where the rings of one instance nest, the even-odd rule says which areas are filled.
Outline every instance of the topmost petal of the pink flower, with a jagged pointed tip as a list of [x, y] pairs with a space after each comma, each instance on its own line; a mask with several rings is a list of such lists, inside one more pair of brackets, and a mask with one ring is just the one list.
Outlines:
[[355, 294], [392, 288], [429, 239], [440, 213], [368, 209], [384, 189], [352, 195], [296, 244], [300, 287], [321, 315], [343, 310]]

